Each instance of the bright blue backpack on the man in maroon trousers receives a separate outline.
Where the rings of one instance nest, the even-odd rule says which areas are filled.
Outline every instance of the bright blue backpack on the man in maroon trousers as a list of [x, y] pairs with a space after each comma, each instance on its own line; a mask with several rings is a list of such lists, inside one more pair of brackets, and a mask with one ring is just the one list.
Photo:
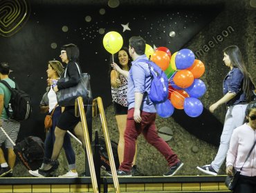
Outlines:
[[165, 72], [153, 61], [145, 59], [139, 61], [147, 63], [151, 72], [152, 82], [148, 93], [149, 99], [155, 104], [163, 103], [168, 97], [168, 78]]

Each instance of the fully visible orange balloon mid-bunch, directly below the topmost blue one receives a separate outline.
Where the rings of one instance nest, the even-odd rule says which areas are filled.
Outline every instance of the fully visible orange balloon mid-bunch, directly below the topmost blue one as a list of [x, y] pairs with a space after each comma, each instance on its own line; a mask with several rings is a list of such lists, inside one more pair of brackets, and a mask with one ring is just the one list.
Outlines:
[[173, 79], [174, 83], [181, 88], [188, 88], [194, 81], [194, 76], [189, 70], [176, 72]]

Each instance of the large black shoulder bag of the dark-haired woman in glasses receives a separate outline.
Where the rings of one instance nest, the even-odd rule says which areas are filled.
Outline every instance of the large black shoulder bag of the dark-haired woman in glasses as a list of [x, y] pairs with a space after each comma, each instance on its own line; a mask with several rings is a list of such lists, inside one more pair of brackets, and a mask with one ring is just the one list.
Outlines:
[[[75, 63], [77, 65], [77, 63]], [[77, 97], [82, 96], [84, 105], [88, 105], [88, 103], [92, 100], [91, 94], [91, 84], [90, 84], [90, 75], [87, 73], [81, 73], [80, 68], [77, 65], [78, 72], [80, 74], [80, 80], [77, 85], [64, 88], [59, 90], [57, 94], [57, 102], [60, 106], [66, 107], [75, 105], [75, 99]], [[58, 82], [66, 82], [70, 78], [66, 77], [66, 70], [64, 72], [64, 78], [61, 78]]]

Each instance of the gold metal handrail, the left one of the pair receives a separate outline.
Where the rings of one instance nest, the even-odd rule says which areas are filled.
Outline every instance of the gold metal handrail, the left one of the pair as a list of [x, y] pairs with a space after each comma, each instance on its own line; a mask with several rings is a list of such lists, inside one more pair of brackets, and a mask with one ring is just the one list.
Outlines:
[[82, 101], [82, 97], [79, 96], [77, 100], [75, 100], [75, 114], [77, 114], [77, 103], [79, 107], [79, 112], [81, 116], [81, 121], [82, 121], [82, 128], [84, 131], [84, 141], [85, 141], [85, 147], [86, 147], [86, 153], [87, 153], [87, 158], [89, 161], [89, 169], [90, 169], [90, 174], [91, 174], [91, 183], [93, 185], [93, 192], [98, 193], [98, 184], [96, 180], [96, 174], [95, 174], [95, 167], [93, 163], [93, 153], [91, 151], [91, 142], [89, 138], [89, 132], [88, 132], [88, 127], [87, 127], [87, 122], [86, 122], [86, 116], [84, 113], [84, 103]]

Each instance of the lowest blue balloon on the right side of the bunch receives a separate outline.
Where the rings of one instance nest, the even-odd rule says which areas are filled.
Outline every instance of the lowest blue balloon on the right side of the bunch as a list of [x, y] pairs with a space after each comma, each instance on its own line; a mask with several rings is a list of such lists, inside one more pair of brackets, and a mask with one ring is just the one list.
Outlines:
[[185, 98], [184, 111], [186, 114], [188, 114], [188, 116], [199, 116], [203, 112], [203, 104], [199, 99], [193, 97]]

